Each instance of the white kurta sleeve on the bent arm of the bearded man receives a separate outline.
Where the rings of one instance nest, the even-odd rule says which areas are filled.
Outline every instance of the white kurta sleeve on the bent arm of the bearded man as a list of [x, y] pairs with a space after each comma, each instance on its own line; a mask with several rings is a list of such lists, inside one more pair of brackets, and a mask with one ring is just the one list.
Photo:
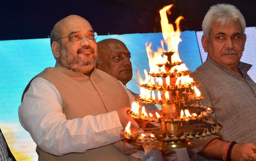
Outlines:
[[67, 120], [57, 88], [47, 79], [32, 80], [19, 106], [19, 120], [35, 143], [53, 155], [82, 153], [121, 140], [116, 111]]

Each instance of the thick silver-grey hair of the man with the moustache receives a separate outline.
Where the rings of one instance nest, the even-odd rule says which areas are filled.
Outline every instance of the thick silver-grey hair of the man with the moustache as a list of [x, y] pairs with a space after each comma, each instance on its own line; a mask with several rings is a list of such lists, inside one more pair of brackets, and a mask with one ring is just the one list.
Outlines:
[[245, 19], [237, 7], [230, 4], [213, 5], [208, 10], [202, 23], [204, 35], [208, 40], [210, 38], [212, 23], [214, 21], [221, 22], [222, 25], [229, 24], [232, 21], [239, 22], [243, 33], [246, 27]]

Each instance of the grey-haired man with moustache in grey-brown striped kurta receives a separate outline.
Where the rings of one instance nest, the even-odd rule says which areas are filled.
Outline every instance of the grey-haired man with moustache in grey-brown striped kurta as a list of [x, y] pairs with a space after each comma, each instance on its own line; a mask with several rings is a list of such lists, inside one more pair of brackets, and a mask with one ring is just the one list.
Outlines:
[[246, 22], [233, 5], [211, 6], [203, 22], [206, 62], [191, 76], [223, 125], [218, 135], [193, 140], [193, 160], [256, 160], [256, 84], [247, 74], [252, 65], [240, 62]]

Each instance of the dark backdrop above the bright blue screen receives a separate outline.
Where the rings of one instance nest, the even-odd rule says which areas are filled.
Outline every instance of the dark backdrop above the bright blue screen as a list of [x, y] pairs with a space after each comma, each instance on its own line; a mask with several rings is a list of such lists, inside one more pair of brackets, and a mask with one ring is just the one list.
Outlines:
[[[60, 19], [76, 14], [86, 18], [99, 35], [161, 32], [159, 10], [172, 0], [94, 1], [2, 1], [0, 40], [47, 38]], [[256, 26], [255, 0], [177, 0], [169, 17], [183, 15], [181, 29], [201, 31], [210, 6], [228, 3], [237, 6], [247, 27]]]

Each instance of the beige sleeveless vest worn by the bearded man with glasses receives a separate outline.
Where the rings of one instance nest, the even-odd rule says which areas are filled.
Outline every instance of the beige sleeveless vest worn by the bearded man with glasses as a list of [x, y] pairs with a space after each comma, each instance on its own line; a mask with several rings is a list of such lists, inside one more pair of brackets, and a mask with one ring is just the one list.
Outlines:
[[[130, 106], [129, 97], [118, 80], [98, 69], [95, 69], [88, 77], [56, 63], [54, 68], [46, 68], [35, 77], [38, 76], [50, 80], [58, 89], [62, 100], [63, 113], [67, 119], [83, 118], [87, 115], [95, 116]], [[30, 82], [25, 88], [23, 96], [28, 90]], [[51, 155], [42, 151], [38, 146], [36, 152], [40, 161], [139, 160], [131, 155], [122, 154], [113, 144], [90, 149], [84, 153], [70, 153], [63, 156]]]

